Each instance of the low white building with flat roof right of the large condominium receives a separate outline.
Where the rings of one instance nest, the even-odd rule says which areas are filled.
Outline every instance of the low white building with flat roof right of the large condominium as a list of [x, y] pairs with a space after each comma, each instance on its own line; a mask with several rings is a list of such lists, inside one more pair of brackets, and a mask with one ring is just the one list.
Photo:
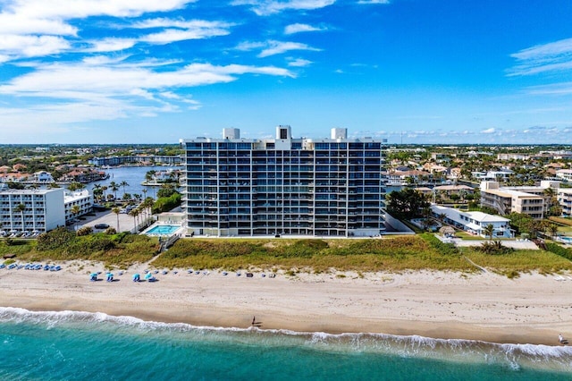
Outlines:
[[451, 207], [441, 207], [432, 205], [431, 211], [433, 216], [441, 218], [444, 216], [444, 222], [451, 224], [458, 229], [462, 229], [467, 233], [480, 235], [488, 238], [484, 233], [484, 229], [492, 224], [492, 238], [512, 238], [513, 233], [510, 231], [509, 218], [501, 216], [492, 216], [483, 212], [463, 212]]

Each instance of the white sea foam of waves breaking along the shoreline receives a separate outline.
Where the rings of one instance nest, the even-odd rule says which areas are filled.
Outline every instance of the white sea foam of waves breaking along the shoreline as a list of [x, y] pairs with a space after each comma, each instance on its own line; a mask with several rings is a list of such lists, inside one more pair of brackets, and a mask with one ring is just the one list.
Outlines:
[[557, 371], [572, 370], [572, 347], [536, 344], [488, 343], [475, 340], [440, 339], [420, 335], [392, 334], [327, 334], [324, 332], [295, 332], [283, 329], [257, 327], [228, 328], [192, 326], [186, 323], [145, 321], [128, 316], [110, 316], [101, 312], [82, 311], [30, 311], [0, 308], [0, 322], [26, 323], [55, 327], [96, 324], [103, 331], [147, 334], [172, 337], [183, 334], [185, 340], [212, 343], [241, 343], [269, 347], [298, 346], [310, 351], [331, 353], [370, 353], [398, 355], [402, 358], [446, 360], [463, 363], [499, 364], [514, 370], [521, 366], [547, 368]]

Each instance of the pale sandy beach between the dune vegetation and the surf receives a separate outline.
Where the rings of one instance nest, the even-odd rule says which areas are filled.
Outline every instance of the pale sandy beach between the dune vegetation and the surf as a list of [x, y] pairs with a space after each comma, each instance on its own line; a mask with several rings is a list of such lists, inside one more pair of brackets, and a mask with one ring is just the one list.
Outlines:
[[[157, 274], [134, 283], [131, 267], [105, 282], [102, 266], [62, 264], [59, 272], [0, 270], [0, 305], [31, 310], [82, 310], [194, 326], [299, 332], [419, 334], [494, 343], [558, 345], [572, 338], [572, 277], [492, 273], [345, 273], [275, 278]], [[98, 282], [88, 273], [102, 271]], [[142, 274], [142, 272], [141, 272]]]

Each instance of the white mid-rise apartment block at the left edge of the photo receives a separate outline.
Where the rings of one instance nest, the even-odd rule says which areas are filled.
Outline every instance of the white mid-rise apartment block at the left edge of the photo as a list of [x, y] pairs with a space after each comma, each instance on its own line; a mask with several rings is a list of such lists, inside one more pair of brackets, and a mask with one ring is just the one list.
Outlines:
[[63, 192], [63, 189], [0, 190], [0, 232], [45, 233], [65, 225]]

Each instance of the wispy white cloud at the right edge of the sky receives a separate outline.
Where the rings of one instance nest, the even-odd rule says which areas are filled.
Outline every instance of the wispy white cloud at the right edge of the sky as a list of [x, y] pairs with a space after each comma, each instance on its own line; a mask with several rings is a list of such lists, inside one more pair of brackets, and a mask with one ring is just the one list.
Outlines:
[[572, 69], [572, 38], [528, 47], [510, 56], [517, 65], [508, 71], [509, 76], [568, 71]]

